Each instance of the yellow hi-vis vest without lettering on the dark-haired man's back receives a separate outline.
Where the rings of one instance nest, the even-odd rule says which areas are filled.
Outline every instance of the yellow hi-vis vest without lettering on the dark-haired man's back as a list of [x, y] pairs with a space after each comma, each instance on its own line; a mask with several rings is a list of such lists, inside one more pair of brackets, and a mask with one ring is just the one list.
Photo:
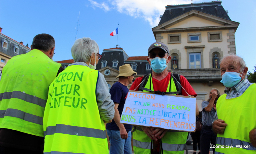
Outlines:
[[37, 49], [7, 62], [0, 81], [0, 128], [44, 136], [48, 88], [60, 66]]

